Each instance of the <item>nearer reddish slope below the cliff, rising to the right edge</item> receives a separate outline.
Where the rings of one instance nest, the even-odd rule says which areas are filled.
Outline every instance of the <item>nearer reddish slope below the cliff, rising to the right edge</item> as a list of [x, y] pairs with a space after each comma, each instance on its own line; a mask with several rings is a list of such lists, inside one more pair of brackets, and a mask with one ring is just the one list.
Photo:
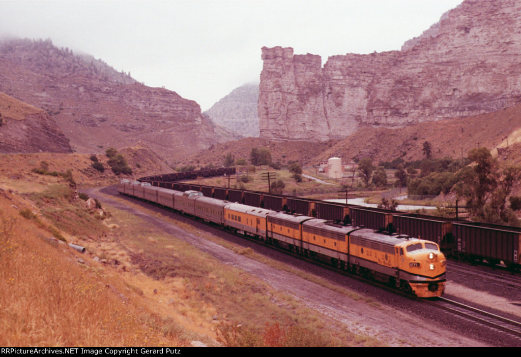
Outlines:
[[492, 113], [400, 128], [367, 125], [318, 155], [316, 160], [339, 156], [344, 160], [370, 157], [381, 162], [402, 157], [413, 161], [425, 157], [422, 151], [425, 141], [431, 143], [433, 157], [461, 158], [477, 147], [493, 150], [512, 146], [521, 140], [520, 129], [519, 104]]

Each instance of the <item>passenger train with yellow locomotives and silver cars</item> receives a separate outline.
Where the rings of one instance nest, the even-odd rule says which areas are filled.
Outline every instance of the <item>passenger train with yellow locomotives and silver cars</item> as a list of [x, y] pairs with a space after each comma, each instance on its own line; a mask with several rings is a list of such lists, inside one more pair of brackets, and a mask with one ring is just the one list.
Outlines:
[[[204, 190], [173, 190], [123, 180], [118, 191], [252, 236], [332, 266], [390, 282], [418, 297], [441, 296], [445, 256], [436, 243], [302, 214], [232, 203]], [[215, 191], [213, 191], [215, 195]]]

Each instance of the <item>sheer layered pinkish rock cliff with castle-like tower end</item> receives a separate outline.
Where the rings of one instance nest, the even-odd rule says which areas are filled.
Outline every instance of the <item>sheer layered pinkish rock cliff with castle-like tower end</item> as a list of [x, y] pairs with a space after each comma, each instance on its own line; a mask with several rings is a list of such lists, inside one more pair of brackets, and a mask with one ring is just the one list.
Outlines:
[[401, 51], [320, 57], [262, 49], [261, 137], [345, 138], [492, 112], [521, 100], [521, 2], [465, 1]]

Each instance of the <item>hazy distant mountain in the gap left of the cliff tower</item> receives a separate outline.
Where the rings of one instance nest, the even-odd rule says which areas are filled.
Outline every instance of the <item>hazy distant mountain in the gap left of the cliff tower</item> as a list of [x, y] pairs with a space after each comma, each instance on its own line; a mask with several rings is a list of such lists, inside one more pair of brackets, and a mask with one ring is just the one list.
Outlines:
[[246, 83], [204, 112], [216, 124], [243, 137], [259, 136], [258, 84]]

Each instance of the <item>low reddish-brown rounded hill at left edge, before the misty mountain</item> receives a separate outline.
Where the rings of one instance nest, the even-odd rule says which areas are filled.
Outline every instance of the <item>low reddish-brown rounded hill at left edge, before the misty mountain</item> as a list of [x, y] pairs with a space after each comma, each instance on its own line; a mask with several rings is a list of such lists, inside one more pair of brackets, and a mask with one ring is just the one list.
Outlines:
[[44, 110], [0, 92], [0, 153], [72, 152]]

